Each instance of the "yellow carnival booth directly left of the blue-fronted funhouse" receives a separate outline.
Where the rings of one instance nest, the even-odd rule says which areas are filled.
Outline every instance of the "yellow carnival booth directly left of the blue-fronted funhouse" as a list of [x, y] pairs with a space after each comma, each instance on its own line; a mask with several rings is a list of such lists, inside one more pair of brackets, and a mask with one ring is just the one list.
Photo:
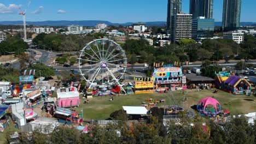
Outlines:
[[144, 78], [133, 78], [135, 86], [133, 91], [135, 93], [153, 93], [154, 92], [154, 81], [151, 77]]

